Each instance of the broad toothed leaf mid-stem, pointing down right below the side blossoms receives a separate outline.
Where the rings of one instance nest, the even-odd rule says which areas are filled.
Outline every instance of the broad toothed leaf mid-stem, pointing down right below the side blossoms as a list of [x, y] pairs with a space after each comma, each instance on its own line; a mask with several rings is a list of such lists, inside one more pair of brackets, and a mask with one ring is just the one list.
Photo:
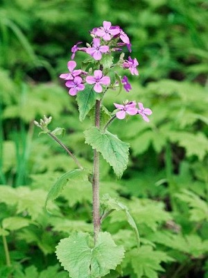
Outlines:
[[101, 152], [103, 158], [113, 167], [116, 176], [121, 177], [128, 164], [129, 144], [109, 131], [101, 133], [96, 127], [84, 133], [85, 142]]

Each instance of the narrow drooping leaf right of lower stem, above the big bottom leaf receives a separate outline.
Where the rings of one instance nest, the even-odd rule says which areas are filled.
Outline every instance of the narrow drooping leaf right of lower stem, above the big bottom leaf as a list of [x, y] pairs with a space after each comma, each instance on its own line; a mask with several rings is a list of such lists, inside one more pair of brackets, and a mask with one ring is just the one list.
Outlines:
[[135, 235], [137, 238], [137, 246], [139, 247], [140, 245], [140, 237], [139, 237], [139, 231], [137, 229], [137, 224], [135, 223], [134, 218], [132, 218], [132, 215], [130, 215], [130, 212], [128, 210], [128, 207], [125, 206], [125, 204], [122, 204], [116, 199], [111, 198], [109, 195], [104, 195], [103, 196], [103, 204], [107, 209], [113, 209], [115, 211], [124, 211], [127, 221], [132, 227], [132, 229], [135, 231]]

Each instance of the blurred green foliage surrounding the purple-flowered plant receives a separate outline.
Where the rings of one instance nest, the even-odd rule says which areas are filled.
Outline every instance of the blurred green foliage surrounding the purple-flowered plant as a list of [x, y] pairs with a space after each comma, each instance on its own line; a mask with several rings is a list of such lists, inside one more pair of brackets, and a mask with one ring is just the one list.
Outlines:
[[[140, 75], [129, 99], [153, 110], [150, 124], [132, 117], [110, 131], [129, 142], [121, 180], [101, 161], [101, 195], [122, 200], [125, 213], [103, 223], [125, 247], [121, 268], [106, 277], [208, 277], [207, 1], [2, 0], [0, 4], [0, 277], [67, 277], [55, 245], [74, 231], [92, 231], [89, 181], [68, 183], [44, 210], [51, 185], [75, 165], [55, 142], [37, 136], [33, 120], [51, 115], [85, 167], [92, 150], [73, 97], [58, 76], [73, 44], [89, 42], [103, 20], [130, 35]], [[81, 63], [85, 54], [77, 55]], [[129, 76], [130, 78], [130, 76]], [[107, 95], [106, 106], [126, 99]], [[105, 198], [104, 198], [105, 199]], [[5, 252], [8, 247], [8, 252]], [[9, 254], [10, 256], [6, 256]]]

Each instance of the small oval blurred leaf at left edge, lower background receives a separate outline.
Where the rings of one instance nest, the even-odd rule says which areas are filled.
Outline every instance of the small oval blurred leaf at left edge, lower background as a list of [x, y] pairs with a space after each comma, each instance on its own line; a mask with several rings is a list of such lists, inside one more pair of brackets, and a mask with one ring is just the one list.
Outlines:
[[21, 218], [19, 216], [13, 216], [10, 218], [4, 218], [2, 221], [3, 229], [8, 229], [10, 231], [18, 230], [23, 227], [27, 227], [31, 224], [31, 220], [26, 218]]

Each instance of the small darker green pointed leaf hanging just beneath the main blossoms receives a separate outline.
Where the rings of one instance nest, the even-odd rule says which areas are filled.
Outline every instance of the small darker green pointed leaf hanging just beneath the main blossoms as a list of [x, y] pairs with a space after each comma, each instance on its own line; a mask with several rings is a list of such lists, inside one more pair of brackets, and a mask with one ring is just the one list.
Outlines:
[[85, 117], [96, 103], [96, 99], [100, 96], [94, 91], [93, 85], [85, 84], [85, 90], [80, 91], [76, 97], [80, 112], [80, 122], [85, 120]]

